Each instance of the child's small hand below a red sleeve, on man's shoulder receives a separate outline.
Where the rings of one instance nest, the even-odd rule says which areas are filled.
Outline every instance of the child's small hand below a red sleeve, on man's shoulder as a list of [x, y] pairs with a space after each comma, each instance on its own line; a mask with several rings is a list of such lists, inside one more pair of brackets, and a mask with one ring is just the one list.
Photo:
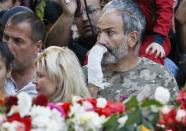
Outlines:
[[164, 51], [163, 47], [160, 44], [156, 43], [156, 42], [152, 42], [147, 47], [145, 52], [146, 52], [146, 54], [149, 54], [149, 55], [151, 55], [153, 53], [156, 53], [155, 58], [157, 58], [157, 57], [161, 57], [161, 58], [165, 57], [165, 51]]

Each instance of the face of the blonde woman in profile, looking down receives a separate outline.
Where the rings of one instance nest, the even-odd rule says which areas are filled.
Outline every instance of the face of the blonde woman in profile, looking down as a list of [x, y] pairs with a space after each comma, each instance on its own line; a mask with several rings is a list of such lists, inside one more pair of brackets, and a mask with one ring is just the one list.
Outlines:
[[42, 71], [39, 66], [37, 66], [36, 75], [36, 89], [38, 93], [49, 98], [53, 97], [57, 90], [57, 82], [50, 79], [46, 71]]

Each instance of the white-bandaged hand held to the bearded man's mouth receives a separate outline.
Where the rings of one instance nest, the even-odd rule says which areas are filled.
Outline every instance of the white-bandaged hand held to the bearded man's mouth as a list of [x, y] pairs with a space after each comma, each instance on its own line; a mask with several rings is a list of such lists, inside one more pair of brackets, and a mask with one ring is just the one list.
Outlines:
[[101, 62], [106, 51], [106, 47], [96, 44], [88, 54], [88, 83], [100, 88], [104, 88]]

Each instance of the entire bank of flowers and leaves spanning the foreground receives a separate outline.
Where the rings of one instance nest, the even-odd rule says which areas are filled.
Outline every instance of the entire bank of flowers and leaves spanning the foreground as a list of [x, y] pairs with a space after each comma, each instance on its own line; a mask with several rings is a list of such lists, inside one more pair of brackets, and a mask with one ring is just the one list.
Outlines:
[[[163, 93], [163, 95], [162, 95]], [[155, 99], [123, 102], [104, 98], [74, 97], [71, 102], [49, 103], [26, 93], [0, 99], [1, 131], [184, 131], [186, 91], [180, 90], [174, 104], [170, 93], [158, 87]]]

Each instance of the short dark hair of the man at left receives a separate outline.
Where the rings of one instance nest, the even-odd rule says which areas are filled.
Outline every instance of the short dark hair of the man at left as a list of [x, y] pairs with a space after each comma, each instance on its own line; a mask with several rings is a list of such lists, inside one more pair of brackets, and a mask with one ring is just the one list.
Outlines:
[[44, 23], [34, 14], [31, 12], [20, 12], [13, 15], [9, 22], [13, 25], [17, 25], [19, 23], [27, 22], [31, 26], [31, 36], [30, 38], [36, 42], [39, 40], [44, 40], [46, 35], [46, 28]]

